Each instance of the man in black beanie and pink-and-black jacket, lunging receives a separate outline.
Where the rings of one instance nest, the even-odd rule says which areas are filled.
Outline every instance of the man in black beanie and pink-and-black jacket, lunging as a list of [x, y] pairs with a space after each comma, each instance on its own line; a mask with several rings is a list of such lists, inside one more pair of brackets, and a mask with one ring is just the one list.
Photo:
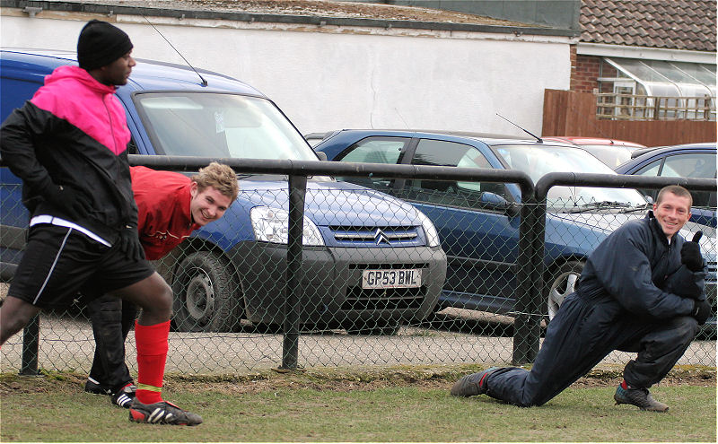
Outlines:
[[0, 127], [0, 153], [22, 178], [31, 214], [28, 240], [0, 306], [0, 344], [40, 309], [109, 294], [142, 309], [135, 325], [137, 390], [129, 420], [197, 425], [202, 418], [162, 399], [172, 292], [144, 259], [137, 234], [127, 144], [115, 96], [135, 59], [127, 34], [88, 22], [77, 42], [80, 66], [62, 65]]

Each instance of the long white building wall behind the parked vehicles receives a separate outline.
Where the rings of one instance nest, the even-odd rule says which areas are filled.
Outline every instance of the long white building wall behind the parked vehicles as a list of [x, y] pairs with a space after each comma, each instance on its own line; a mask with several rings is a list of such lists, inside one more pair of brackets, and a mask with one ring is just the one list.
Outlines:
[[[84, 22], [115, 22], [133, 55], [184, 63], [138, 16], [3, 8], [4, 48], [74, 50]], [[195, 67], [263, 91], [302, 133], [338, 128], [540, 133], [544, 90], [569, 88], [569, 39], [220, 20], [152, 18]]]

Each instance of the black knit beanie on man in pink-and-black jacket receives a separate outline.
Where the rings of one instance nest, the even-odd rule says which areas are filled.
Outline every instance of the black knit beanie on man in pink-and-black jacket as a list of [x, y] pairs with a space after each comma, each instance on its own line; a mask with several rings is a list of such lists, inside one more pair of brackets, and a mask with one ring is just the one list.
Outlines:
[[77, 62], [89, 71], [109, 65], [130, 49], [132, 42], [125, 31], [108, 22], [92, 20], [84, 25], [77, 39]]

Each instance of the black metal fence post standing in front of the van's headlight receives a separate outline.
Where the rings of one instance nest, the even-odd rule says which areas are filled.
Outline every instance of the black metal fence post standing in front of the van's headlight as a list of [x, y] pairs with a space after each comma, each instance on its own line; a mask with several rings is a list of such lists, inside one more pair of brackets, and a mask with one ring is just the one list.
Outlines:
[[302, 300], [302, 234], [306, 176], [289, 176], [289, 232], [286, 250], [285, 336], [282, 369], [296, 370], [299, 360], [299, 301]]

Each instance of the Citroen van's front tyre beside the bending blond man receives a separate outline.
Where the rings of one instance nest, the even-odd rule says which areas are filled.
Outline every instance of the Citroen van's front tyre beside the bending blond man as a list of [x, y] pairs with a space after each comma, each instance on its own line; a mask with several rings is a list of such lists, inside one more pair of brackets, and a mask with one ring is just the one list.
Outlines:
[[209, 251], [188, 255], [177, 269], [172, 292], [175, 330], [231, 332], [240, 326], [240, 284], [225, 257]]

